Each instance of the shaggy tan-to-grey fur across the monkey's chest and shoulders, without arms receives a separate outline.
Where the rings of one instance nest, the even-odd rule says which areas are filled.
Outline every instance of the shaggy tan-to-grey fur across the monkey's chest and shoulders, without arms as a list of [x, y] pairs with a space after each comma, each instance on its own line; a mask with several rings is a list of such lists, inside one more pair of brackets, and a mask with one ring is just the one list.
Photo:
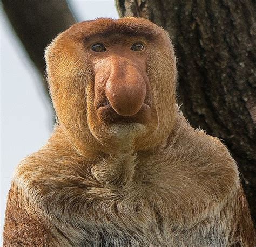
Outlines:
[[224, 207], [237, 181], [223, 181], [232, 168], [180, 152], [120, 153], [92, 164], [56, 156], [43, 168], [33, 157], [15, 180], [66, 245], [225, 246]]

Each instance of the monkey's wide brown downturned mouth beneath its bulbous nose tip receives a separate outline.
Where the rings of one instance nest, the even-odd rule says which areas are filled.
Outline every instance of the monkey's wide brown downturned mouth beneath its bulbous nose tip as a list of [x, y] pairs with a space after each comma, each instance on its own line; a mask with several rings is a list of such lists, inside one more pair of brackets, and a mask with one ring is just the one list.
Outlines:
[[106, 124], [134, 124], [139, 123], [147, 125], [151, 119], [151, 108], [143, 103], [140, 110], [132, 116], [119, 115], [110, 104], [104, 105], [97, 109], [97, 114], [100, 121]]

